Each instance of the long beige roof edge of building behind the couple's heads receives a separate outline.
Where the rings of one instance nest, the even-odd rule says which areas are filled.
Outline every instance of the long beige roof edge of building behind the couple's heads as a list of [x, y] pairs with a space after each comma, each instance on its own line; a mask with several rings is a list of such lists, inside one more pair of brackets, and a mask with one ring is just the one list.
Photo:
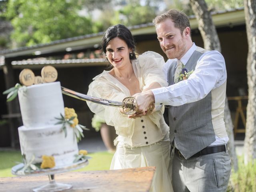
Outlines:
[[[244, 8], [213, 12], [212, 19], [217, 28], [222, 26], [245, 24]], [[198, 22], [195, 16], [190, 16], [190, 26], [192, 30], [198, 28]], [[129, 28], [133, 36], [156, 33], [155, 27], [152, 23], [140, 24]], [[19, 56], [36, 56], [44, 54], [54, 55], [56, 52], [70, 52], [88, 48], [98, 48], [102, 35], [103, 32], [99, 32], [56, 40], [48, 44], [37, 44], [30, 47], [2, 50], [0, 51], [0, 56], [4, 56], [4, 58], [16, 58]]]

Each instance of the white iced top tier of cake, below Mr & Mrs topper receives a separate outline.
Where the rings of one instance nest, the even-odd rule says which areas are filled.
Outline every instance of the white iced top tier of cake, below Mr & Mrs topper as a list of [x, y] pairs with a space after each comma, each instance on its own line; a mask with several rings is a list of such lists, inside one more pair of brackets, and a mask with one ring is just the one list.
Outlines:
[[64, 114], [60, 82], [28, 86], [18, 91], [22, 122], [26, 128], [55, 124]]

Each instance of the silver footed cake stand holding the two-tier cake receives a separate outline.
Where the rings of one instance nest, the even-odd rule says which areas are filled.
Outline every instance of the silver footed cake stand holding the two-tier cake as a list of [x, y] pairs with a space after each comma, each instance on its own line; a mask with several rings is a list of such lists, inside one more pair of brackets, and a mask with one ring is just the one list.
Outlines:
[[72, 188], [72, 185], [64, 184], [64, 183], [57, 183], [54, 180], [54, 174], [76, 170], [76, 169], [82, 168], [88, 164], [89, 164], [88, 159], [85, 159], [85, 160], [80, 160], [76, 163], [62, 166], [62, 167], [54, 167], [54, 168], [49, 168], [49, 169], [39, 169], [39, 170], [31, 170], [31, 171], [21, 172], [20, 169], [24, 166], [24, 164], [20, 163], [16, 166], [12, 167], [12, 174], [17, 175], [17, 176], [48, 175], [49, 183], [44, 186], [34, 188], [33, 191], [34, 192], [58, 192], [58, 191], [68, 190], [68, 189]]

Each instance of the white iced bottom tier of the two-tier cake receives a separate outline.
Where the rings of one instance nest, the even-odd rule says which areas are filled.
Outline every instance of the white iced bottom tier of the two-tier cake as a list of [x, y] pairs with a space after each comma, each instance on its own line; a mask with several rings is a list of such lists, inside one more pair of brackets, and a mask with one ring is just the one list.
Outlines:
[[42, 162], [42, 155], [53, 156], [55, 167], [72, 164], [74, 155], [78, 154], [73, 128], [67, 126], [67, 136], [62, 130], [62, 124], [45, 126], [43, 128], [18, 128], [20, 149], [26, 160], [35, 157], [34, 163]]

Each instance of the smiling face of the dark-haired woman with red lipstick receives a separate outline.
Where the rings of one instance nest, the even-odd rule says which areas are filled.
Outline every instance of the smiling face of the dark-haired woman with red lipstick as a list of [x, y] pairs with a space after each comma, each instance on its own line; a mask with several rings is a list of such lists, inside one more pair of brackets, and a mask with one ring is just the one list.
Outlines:
[[115, 37], [108, 42], [106, 56], [112, 66], [115, 68], [124, 68], [130, 64], [129, 52], [131, 51], [132, 49], [128, 48], [124, 40]]

